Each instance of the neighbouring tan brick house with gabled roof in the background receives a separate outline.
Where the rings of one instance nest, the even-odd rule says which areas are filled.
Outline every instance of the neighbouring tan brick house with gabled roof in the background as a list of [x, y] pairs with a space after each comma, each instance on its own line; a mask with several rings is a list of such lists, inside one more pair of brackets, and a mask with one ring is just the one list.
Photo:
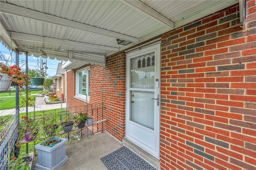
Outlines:
[[56, 75], [50, 77], [52, 79], [53, 84], [55, 86], [55, 92], [59, 99], [62, 99], [63, 102], [66, 102], [66, 74], [65, 70], [62, 69], [62, 62], [58, 63], [58, 68], [56, 71]]

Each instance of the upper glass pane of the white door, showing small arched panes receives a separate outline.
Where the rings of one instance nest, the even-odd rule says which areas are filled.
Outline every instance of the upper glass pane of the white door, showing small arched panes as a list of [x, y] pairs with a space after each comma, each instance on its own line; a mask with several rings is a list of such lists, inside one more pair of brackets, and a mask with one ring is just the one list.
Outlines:
[[[153, 59], [154, 52], [130, 59], [131, 63], [131, 88], [154, 89], [155, 68], [154, 64], [146, 66], [145, 58]], [[142, 67], [140, 67], [142, 61]]]

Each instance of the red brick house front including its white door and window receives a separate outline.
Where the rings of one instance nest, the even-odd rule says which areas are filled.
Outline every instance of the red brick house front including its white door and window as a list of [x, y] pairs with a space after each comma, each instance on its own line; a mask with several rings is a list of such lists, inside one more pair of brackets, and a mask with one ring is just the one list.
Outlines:
[[67, 107], [103, 96], [106, 132], [161, 169], [256, 169], [255, 1], [247, 8], [244, 28], [236, 4], [106, 56], [105, 66], [68, 67]]

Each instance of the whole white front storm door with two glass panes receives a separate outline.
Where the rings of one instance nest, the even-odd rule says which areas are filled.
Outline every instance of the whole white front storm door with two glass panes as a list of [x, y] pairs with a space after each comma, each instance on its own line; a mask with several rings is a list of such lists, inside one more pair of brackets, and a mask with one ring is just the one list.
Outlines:
[[126, 138], [159, 158], [160, 43], [127, 53]]

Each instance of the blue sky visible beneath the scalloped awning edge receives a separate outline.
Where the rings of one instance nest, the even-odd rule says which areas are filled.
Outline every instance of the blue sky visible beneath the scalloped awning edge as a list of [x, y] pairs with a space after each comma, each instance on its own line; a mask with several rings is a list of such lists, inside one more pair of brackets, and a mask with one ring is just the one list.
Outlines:
[[[15, 57], [16, 54], [15, 51], [12, 52], [12, 59], [10, 57], [10, 51], [7, 47], [4, 47], [2, 42], [0, 42], [0, 51], [2, 55], [9, 61], [10, 65], [15, 64]], [[26, 65], [22, 63], [22, 60], [26, 59], [26, 55], [23, 53], [20, 55], [20, 67], [22, 69], [26, 69]], [[43, 59], [42, 57], [34, 57], [34, 55], [28, 56], [28, 69], [40, 69], [40, 60]], [[47, 63], [48, 69], [46, 70], [47, 77], [52, 77], [56, 75], [56, 71], [58, 68], [58, 63], [60, 63], [60, 60], [57, 59], [50, 59], [49, 57], [47, 59], [43, 59], [43, 62]], [[0, 59], [0, 62], [5, 62], [4, 60]]]

